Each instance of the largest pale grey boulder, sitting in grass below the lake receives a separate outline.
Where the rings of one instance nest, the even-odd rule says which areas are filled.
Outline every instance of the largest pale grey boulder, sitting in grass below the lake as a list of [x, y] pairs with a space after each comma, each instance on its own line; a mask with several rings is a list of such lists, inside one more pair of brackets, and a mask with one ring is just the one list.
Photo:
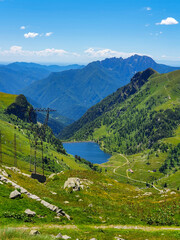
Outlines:
[[72, 188], [73, 191], [79, 191], [80, 189], [84, 189], [88, 185], [92, 184], [87, 179], [80, 179], [80, 178], [68, 178], [68, 180], [64, 183], [65, 188]]

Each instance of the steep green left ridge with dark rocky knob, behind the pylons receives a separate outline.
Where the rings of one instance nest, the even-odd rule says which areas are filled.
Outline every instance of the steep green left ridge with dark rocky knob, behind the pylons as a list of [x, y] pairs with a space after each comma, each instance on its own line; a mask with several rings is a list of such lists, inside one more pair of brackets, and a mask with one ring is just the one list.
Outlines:
[[[29, 123], [28, 108], [32, 107], [23, 95], [0, 93], [0, 133], [2, 163], [14, 166], [16, 135], [17, 166], [29, 172], [30, 161], [34, 162], [36, 150], [37, 171], [42, 172], [42, 145], [44, 148], [45, 172], [64, 169], [89, 169], [89, 162], [75, 161], [75, 158], [65, 153], [62, 143], [52, 130], [36, 124], [36, 114], [32, 113], [33, 123]], [[35, 147], [35, 142], [37, 146]], [[30, 147], [31, 146], [31, 147]], [[31, 156], [30, 156], [31, 153]], [[33, 160], [32, 160], [33, 159]], [[32, 166], [31, 166], [32, 167]], [[93, 165], [91, 164], [91, 167]], [[32, 167], [33, 169], [33, 167]]]

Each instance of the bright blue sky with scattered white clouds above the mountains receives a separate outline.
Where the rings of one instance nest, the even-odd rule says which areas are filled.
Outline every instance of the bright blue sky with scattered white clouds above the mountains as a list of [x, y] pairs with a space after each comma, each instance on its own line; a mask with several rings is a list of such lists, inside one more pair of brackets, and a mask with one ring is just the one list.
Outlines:
[[180, 66], [179, 0], [0, 0], [0, 62], [134, 53]]

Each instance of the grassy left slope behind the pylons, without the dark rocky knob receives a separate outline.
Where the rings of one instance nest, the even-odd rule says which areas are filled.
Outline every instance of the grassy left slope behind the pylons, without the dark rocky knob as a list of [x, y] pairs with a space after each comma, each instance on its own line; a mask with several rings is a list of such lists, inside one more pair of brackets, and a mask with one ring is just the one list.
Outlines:
[[[0, 93], [0, 131], [2, 164], [10, 166], [14, 165], [14, 135], [16, 135], [17, 167], [19, 167], [25, 172], [28, 172], [30, 170], [30, 161], [32, 165], [34, 163], [35, 145], [33, 144], [33, 139], [35, 139], [34, 131], [35, 128], [38, 128], [38, 125], [32, 125], [28, 122], [24, 122], [23, 120], [17, 118], [17, 116], [15, 115], [5, 114], [5, 110], [9, 108], [11, 104], [17, 102], [18, 98], [19, 97], [17, 97], [16, 95]], [[89, 168], [84, 163], [76, 162], [73, 156], [64, 154], [64, 152], [61, 151], [62, 149], [60, 149], [60, 151], [57, 151], [57, 147], [55, 147], [54, 145], [56, 138], [53, 137], [53, 134], [49, 128], [47, 128], [46, 134], [46, 138], [43, 137], [44, 158], [47, 159], [47, 162], [45, 164], [46, 174], [51, 174], [51, 172], [53, 171], [61, 171], [65, 169]], [[39, 143], [36, 151], [38, 167], [37, 171], [39, 173], [42, 173], [42, 147], [40, 145], [40, 138], [36, 137], [36, 139]], [[62, 146], [60, 146], [60, 142], [59, 148], [62, 148]], [[33, 169], [33, 166], [31, 166], [31, 170]]]

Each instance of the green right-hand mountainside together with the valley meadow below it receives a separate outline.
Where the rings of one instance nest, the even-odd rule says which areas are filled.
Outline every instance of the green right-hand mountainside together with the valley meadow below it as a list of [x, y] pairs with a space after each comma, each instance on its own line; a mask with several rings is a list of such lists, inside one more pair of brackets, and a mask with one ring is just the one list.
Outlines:
[[[177, 189], [180, 156], [178, 152], [174, 155], [171, 152], [178, 151], [180, 143], [180, 71], [155, 73], [131, 94], [140, 80], [141, 77], [135, 75], [131, 85], [118, 89], [89, 109], [60, 136], [97, 141], [102, 149], [113, 154], [103, 166], [110, 176], [121, 182], [140, 187], [154, 182], [160, 189], [167, 183], [169, 188]], [[126, 160], [114, 155], [115, 152], [127, 154], [129, 163], [125, 164]], [[118, 166], [116, 173], [123, 176], [114, 174]], [[160, 172], [162, 166], [164, 169]], [[128, 169], [134, 173], [127, 175]]]

